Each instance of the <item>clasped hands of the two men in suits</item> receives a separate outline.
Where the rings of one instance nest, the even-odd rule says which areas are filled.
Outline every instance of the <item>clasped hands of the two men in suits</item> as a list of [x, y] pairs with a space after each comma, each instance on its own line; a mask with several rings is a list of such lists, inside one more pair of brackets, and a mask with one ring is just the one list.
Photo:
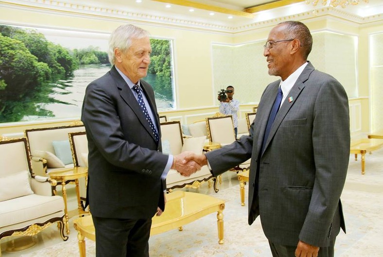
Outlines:
[[191, 174], [201, 170], [201, 167], [208, 164], [205, 154], [194, 154], [193, 152], [183, 152], [174, 155], [172, 169], [181, 175], [189, 177]]

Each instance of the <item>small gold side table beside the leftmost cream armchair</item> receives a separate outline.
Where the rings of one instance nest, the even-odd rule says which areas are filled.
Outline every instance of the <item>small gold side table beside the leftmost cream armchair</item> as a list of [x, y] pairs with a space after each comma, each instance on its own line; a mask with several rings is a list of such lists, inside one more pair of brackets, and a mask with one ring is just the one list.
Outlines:
[[[67, 189], [65, 188], [65, 183], [68, 180], [74, 180], [76, 183], [76, 195], [77, 195], [77, 204], [78, 204], [78, 214], [84, 214], [87, 213], [83, 210], [83, 206], [81, 205], [80, 201], [80, 189], [78, 186], [78, 179], [85, 177], [87, 178], [88, 175], [88, 168], [87, 167], [74, 167], [74, 168], [68, 168], [63, 169], [60, 171], [52, 171], [48, 173], [49, 177], [58, 181], [61, 181], [62, 185], [62, 191], [63, 191], [63, 198], [64, 198], [64, 212], [65, 212], [65, 226], [67, 227], [67, 234], [70, 234], [69, 230], [69, 214], [68, 214], [68, 205], [67, 205]], [[56, 192], [55, 192], [56, 193]]]

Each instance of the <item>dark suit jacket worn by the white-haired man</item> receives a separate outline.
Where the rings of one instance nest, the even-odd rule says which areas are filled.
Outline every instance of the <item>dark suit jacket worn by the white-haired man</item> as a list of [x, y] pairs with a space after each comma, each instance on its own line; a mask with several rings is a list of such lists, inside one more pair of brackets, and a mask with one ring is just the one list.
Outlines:
[[[152, 87], [142, 90], [159, 118]], [[150, 218], [164, 207], [161, 153], [129, 86], [115, 67], [87, 86], [81, 120], [88, 139], [88, 200], [92, 215]], [[159, 129], [158, 129], [159, 131]], [[160, 132], [160, 131], [159, 131]]]

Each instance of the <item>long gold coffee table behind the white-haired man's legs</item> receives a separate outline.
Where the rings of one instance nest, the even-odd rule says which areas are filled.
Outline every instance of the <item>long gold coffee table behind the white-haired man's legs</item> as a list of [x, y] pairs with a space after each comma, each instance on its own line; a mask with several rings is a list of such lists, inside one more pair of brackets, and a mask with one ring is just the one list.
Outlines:
[[[150, 235], [156, 235], [174, 228], [182, 230], [182, 226], [217, 212], [218, 243], [224, 243], [225, 200], [206, 194], [185, 191], [173, 191], [166, 195], [166, 207], [161, 216], [154, 216]], [[78, 231], [78, 247], [80, 257], [86, 257], [85, 238], [95, 241], [96, 235], [92, 216], [76, 219], [74, 228]]]

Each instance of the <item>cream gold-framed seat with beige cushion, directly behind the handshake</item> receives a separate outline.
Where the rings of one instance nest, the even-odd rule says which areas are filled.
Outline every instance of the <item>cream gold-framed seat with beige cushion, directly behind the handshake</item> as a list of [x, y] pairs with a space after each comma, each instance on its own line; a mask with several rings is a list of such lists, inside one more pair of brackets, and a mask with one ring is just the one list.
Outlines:
[[[164, 154], [180, 154], [191, 151], [202, 154], [206, 136], [183, 138], [180, 121], [168, 121], [161, 123], [161, 141]], [[179, 174], [178, 171], [170, 170], [166, 177], [167, 190], [174, 188], [199, 188], [204, 181], [213, 180], [214, 190], [218, 192], [217, 180], [211, 174], [209, 168], [204, 166], [189, 177]], [[210, 185], [210, 184], [209, 184]]]

